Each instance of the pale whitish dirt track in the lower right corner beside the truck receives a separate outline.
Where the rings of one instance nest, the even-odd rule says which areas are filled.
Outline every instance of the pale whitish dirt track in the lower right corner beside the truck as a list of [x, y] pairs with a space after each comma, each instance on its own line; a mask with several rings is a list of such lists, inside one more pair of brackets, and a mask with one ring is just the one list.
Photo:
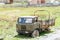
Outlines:
[[45, 34], [38, 38], [38, 40], [60, 40], [60, 27], [52, 28], [53, 33]]

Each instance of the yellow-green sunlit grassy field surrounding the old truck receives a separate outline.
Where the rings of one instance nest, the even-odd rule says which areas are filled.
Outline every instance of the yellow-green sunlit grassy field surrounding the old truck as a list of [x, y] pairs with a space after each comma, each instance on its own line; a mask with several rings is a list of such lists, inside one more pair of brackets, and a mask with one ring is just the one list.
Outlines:
[[55, 26], [60, 25], [60, 13], [56, 14], [60, 12], [60, 7], [0, 8], [0, 35], [4, 37], [4, 40], [33, 40], [26, 35], [17, 35], [16, 20], [20, 16], [31, 16], [36, 10], [48, 10], [51, 17], [55, 14], [57, 17]]

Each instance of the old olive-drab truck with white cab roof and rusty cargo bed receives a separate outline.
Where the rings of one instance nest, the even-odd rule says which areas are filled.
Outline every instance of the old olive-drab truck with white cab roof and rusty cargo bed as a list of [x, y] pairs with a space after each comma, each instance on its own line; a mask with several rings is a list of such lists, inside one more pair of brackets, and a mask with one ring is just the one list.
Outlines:
[[39, 20], [38, 16], [21, 16], [17, 19], [16, 30], [18, 34], [31, 34], [39, 36], [42, 31], [49, 31], [49, 26], [55, 25], [55, 18]]

